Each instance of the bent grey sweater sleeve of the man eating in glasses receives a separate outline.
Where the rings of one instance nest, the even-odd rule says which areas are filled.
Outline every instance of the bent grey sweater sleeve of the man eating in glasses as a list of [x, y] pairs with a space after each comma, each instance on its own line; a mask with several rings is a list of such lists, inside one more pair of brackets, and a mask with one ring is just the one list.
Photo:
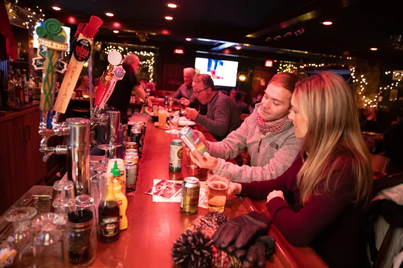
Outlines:
[[214, 120], [197, 114], [195, 122], [207, 128], [213, 135], [224, 137], [230, 125], [230, 109], [225, 102], [217, 102], [214, 107]]

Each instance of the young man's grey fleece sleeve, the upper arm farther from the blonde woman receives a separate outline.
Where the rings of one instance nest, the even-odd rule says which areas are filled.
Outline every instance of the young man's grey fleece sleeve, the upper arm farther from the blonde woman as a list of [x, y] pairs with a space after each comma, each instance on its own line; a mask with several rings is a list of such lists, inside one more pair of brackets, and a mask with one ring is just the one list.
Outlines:
[[249, 117], [245, 119], [242, 125], [232, 131], [220, 142], [208, 142], [209, 153], [211, 156], [225, 160], [233, 159], [238, 156], [246, 147], [246, 137], [248, 136]]

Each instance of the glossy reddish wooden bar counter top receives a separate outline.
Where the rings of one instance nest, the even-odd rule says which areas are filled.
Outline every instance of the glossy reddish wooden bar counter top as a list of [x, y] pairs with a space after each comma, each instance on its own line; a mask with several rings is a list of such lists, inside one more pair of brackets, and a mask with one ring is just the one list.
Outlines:
[[[215, 141], [203, 127], [195, 128], [204, 132], [208, 140]], [[187, 169], [183, 164], [182, 172], [169, 172], [169, 145], [173, 139], [178, 139], [178, 136], [156, 128], [150, 119], [139, 165], [137, 189], [126, 195], [128, 228], [120, 233], [118, 241], [98, 243], [96, 260], [91, 267], [177, 267], [171, 257], [174, 241], [191, 221], [207, 214], [207, 209], [198, 208], [197, 214], [185, 215], [180, 212], [179, 203], [153, 202], [153, 197], [145, 192], [153, 186], [154, 179], [181, 181], [186, 176], [195, 176], [205, 181], [207, 170]], [[259, 204], [231, 196], [227, 198], [224, 214], [233, 218], [251, 210], [263, 212], [262, 207], [256, 206]], [[326, 267], [311, 248], [290, 245], [273, 226], [269, 233], [276, 238], [277, 248], [267, 267]]]

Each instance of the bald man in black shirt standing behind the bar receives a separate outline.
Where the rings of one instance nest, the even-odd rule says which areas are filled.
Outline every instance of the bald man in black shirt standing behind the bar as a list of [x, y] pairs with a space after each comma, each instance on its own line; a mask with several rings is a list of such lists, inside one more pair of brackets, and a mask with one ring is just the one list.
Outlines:
[[[128, 54], [123, 59], [122, 67], [126, 73], [124, 74], [123, 79], [116, 83], [115, 90], [110, 96], [107, 104], [118, 109], [121, 113], [126, 113], [130, 104], [131, 91], [134, 90], [143, 100], [146, 98], [146, 92], [136, 78], [136, 73], [140, 68], [139, 57], [135, 54]], [[150, 99], [148, 99], [148, 106], [153, 106]]]

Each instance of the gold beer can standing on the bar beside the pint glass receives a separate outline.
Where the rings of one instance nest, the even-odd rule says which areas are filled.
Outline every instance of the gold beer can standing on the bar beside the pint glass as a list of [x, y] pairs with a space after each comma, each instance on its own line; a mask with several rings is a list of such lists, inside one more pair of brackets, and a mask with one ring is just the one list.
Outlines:
[[182, 183], [182, 198], [180, 200], [180, 211], [185, 214], [196, 214], [198, 207], [198, 196], [200, 183], [196, 177], [185, 177]]

